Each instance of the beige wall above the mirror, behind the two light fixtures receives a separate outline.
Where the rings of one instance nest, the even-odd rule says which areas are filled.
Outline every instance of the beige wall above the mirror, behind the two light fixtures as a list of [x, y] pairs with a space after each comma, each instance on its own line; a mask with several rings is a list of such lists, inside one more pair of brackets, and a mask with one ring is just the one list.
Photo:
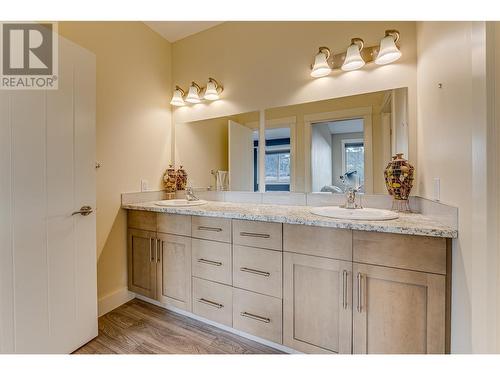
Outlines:
[[[319, 46], [345, 51], [355, 36], [376, 45], [390, 28], [401, 32], [403, 57], [397, 63], [311, 79]], [[220, 101], [176, 108], [175, 123], [408, 87], [409, 158], [415, 159], [415, 22], [226, 22], [175, 42], [172, 56], [174, 84], [204, 85], [213, 76], [224, 85]]]

